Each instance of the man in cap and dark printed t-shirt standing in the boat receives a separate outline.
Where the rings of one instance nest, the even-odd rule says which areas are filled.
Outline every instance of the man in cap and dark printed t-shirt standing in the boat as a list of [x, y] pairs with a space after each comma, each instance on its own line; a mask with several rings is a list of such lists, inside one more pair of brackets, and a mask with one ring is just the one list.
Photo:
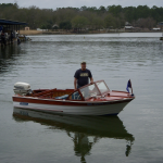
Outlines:
[[77, 70], [74, 75], [74, 88], [75, 89], [78, 89], [85, 85], [88, 85], [89, 78], [90, 78], [90, 83], [93, 83], [91, 72], [86, 68], [86, 62], [82, 62], [80, 66], [82, 68]]

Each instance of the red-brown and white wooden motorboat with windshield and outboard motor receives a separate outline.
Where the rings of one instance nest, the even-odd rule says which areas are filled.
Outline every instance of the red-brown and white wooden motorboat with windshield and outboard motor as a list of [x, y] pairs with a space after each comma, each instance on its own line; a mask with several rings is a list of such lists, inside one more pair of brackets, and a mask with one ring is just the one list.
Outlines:
[[21, 109], [72, 115], [117, 115], [135, 97], [126, 91], [110, 90], [98, 80], [77, 90], [30, 90], [25, 83], [14, 85], [13, 105]]

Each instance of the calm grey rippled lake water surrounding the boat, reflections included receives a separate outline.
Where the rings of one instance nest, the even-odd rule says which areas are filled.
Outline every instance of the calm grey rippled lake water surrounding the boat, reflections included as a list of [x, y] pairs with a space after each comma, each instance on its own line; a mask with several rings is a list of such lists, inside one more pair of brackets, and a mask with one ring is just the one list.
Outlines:
[[[41, 35], [0, 49], [1, 163], [163, 162], [161, 33]], [[133, 83], [136, 99], [118, 116], [59, 116], [13, 110], [13, 85], [73, 88], [80, 61], [111, 90]], [[13, 114], [18, 112], [18, 115]], [[29, 116], [30, 115], [30, 116]]]

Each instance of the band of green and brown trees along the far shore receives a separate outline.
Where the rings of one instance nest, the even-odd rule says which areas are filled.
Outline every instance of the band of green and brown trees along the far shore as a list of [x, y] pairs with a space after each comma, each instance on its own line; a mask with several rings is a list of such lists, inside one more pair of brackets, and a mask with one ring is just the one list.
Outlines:
[[[122, 28], [128, 22], [135, 27], [152, 28], [163, 22], [163, 8], [153, 5], [100, 8], [57, 8], [39, 9], [35, 5], [20, 8], [17, 3], [1, 3], [0, 18], [26, 22], [32, 29], [36, 28]], [[53, 26], [55, 24], [55, 26]], [[58, 26], [57, 26], [58, 25]]]

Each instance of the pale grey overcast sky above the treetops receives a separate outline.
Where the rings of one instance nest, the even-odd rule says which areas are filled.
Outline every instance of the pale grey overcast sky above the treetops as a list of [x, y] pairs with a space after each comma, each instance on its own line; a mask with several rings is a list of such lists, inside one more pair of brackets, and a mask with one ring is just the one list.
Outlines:
[[28, 8], [30, 5], [36, 5], [43, 9], [57, 9], [57, 8], [80, 8], [86, 7], [97, 7], [100, 5], [122, 5], [122, 7], [137, 7], [137, 5], [148, 5], [148, 7], [163, 7], [163, 0], [0, 0], [0, 3], [14, 3], [17, 2], [21, 8]]

